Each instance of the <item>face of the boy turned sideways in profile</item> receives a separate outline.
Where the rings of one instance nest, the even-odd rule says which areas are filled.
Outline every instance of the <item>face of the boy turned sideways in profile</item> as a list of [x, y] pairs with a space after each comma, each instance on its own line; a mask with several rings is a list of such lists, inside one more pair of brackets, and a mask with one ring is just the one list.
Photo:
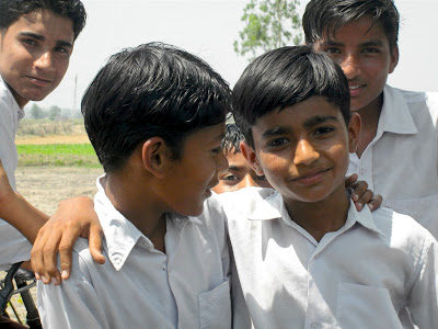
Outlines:
[[204, 201], [218, 183], [218, 173], [228, 167], [221, 149], [224, 123], [191, 134], [184, 141], [181, 160], [174, 161], [168, 177], [165, 198], [181, 215], [197, 216]]

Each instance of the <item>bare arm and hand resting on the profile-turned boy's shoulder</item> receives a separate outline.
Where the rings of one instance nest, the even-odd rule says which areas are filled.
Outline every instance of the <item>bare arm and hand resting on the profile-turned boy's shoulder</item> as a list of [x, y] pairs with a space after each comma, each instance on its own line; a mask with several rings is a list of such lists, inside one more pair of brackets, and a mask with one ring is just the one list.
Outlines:
[[[93, 201], [89, 197], [76, 197], [72, 201], [73, 203], [71, 204], [61, 202], [59, 211], [67, 218], [79, 218], [78, 222], [72, 220], [65, 224], [62, 220], [57, 220], [57, 215], [49, 220], [49, 216], [38, 211], [22, 195], [12, 190], [0, 161], [0, 218], [14, 226], [34, 245], [32, 254], [34, 254], [33, 259], [36, 264], [33, 262], [32, 269], [35, 272], [35, 276], [43, 279], [43, 282], [48, 283], [50, 277], [54, 277], [54, 282], [60, 283], [61, 281], [61, 273], [56, 269], [58, 250], [61, 263], [65, 264], [61, 268], [67, 269], [66, 273], [70, 273], [72, 246], [78, 237], [89, 239], [89, 248], [96, 262], [105, 262], [105, 258], [101, 252], [102, 228], [93, 209]], [[51, 229], [55, 232], [59, 232], [61, 237], [57, 239], [56, 234], [51, 234]], [[38, 246], [44, 246], [44, 248], [38, 248]], [[53, 252], [51, 250], [56, 251]], [[45, 262], [43, 260], [50, 257], [51, 259], [48, 262], [51, 264], [50, 276], [45, 276]], [[30, 269], [28, 265], [25, 268]], [[38, 274], [39, 269], [43, 269], [42, 274]], [[66, 273], [64, 273], [65, 279], [68, 277]], [[46, 277], [49, 279], [47, 280]]]

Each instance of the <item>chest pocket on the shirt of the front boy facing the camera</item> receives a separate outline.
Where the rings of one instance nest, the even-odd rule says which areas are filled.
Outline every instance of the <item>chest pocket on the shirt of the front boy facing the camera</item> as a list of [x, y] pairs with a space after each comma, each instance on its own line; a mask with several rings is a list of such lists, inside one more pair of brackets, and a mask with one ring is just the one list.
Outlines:
[[341, 282], [337, 321], [343, 329], [403, 328], [388, 290]]

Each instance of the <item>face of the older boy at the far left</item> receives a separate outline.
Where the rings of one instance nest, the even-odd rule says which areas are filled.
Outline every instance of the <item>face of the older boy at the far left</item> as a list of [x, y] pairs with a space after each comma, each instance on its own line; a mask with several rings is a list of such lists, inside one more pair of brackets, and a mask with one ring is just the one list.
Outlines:
[[22, 15], [0, 33], [0, 75], [20, 107], [47, 97], [67, 71], [73, 23], [49, 10]]

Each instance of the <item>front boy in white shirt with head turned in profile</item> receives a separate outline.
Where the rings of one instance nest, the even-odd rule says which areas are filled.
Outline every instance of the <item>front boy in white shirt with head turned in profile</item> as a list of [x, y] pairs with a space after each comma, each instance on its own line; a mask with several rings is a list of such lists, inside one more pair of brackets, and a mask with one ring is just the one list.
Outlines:
[[226, 222], [208, 198], [230, 98], [206, 63], [163, 44], [100, 70], [81, 107], [106, 172], [94, 204], [108, 261], [76, 243], [70, 279], [38, 285], [44, 328], [231, 327]]

